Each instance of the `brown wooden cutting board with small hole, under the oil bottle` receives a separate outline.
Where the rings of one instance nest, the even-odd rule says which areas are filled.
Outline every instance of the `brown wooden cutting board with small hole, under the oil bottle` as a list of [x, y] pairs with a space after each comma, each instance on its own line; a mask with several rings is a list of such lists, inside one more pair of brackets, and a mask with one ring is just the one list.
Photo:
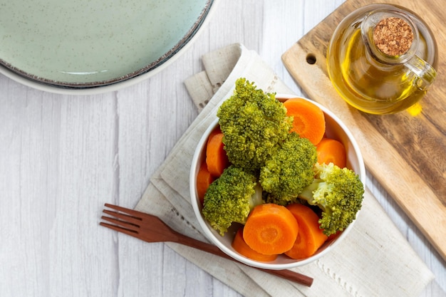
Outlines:
[[422, 113], [368, 115], [351, 108], [328, 78], [326, 50], [339, 22], [378, 1], [347, 0], [291, 46], [282, 61], [310, 98], [338, 115], [356, 137], [367, 169], [446, 260], [446, 26], [442, 0], [379, 1], [414, 11], [438, 47], [437, 80], [422, 99]]

